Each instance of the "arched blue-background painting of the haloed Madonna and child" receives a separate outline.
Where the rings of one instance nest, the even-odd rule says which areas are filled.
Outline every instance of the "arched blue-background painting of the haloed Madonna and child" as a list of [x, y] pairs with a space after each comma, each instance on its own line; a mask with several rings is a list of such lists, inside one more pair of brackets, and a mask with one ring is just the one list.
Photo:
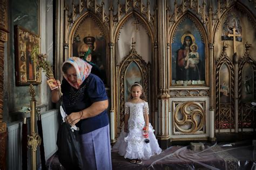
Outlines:
[[205, 85], [205, 41], [197, 24], [186, 17], [173, 34], [172, 85]]

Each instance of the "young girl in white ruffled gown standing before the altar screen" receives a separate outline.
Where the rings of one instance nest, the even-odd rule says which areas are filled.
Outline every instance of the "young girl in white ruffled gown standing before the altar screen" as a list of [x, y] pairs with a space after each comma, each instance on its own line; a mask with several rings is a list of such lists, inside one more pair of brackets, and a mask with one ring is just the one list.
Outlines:
[[[113, 151], [117, 150], [124, 158], [129, 158], [132, 164], [141, 164], [142, 159], [150, 159], [161, 152], [149, 123], [149, 105], [142, 100], [142, 90], [137, 82], [131, 86], [131, 99], [125, 103], [124, 127], [113, 146]], [[145, 137], [149, 138], [149, 143]]]

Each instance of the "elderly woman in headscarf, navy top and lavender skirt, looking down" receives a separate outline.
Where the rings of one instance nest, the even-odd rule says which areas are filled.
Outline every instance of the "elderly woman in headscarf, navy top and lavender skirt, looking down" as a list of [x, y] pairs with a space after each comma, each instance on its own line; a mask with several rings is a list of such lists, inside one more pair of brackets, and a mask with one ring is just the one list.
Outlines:
[[[108, 99], [103, 81], [91, 72], [91, 65], [71, 57], [62, 65], [61, 84], [66, 121], [79, 127], [83, 169], [112, 169], [109, 136]], [[60, 86], [60, 81], [57, 80]], [[58, 89], [51, 99], [60, 99]]]

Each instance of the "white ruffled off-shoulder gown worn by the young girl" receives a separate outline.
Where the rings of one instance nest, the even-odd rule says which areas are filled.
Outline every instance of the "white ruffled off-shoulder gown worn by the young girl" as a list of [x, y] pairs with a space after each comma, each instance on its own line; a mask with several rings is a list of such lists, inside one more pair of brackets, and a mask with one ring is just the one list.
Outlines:
[[129, 132], [124, 132], [123, 127], [116, 144], [112, 148], [113, 151], [118, 151], [124, 158], [146, 160], [150, 159], [152, 155], [161, 152], [151, 124], [149, 124], [150, 142], [146, 144], [144, 141], [144, 113], [149, 114], [149, 104], [147, 104], [147, 102], [137, 104], [130, 102], [125, 103], [125, 114], [130, 114], [128, 120]]

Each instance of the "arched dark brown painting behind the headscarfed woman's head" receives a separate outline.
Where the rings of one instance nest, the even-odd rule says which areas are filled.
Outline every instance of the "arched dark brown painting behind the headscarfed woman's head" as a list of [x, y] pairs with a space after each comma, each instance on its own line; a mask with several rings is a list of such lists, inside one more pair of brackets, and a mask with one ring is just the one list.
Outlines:
[[[93, 16], [87, 15], [82, 22], [79, 23], [72, 36], [72, 56], [86, 58], [87, 47], [90, 48], [91, 58], [86, 60], [95, 65], [99, 73], [95, 73], [106, 84], [106, 38], [102, 26], [92, 19]], [[86, 49], [86, 51], [85, 51]]]

